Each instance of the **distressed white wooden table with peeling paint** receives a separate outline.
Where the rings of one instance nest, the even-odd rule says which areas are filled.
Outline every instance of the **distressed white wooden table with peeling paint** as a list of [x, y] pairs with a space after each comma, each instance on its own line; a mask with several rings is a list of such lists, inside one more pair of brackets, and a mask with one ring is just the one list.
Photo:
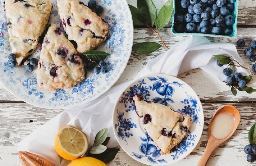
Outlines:
[[[128, 4], [137, 7], [137, 0], [127, 0]], [[158, 11], [166, 0], [153, 0]], [[234, 38], [207, 37], [213, 43], [233, 43], [239, 38], [244, 38], [247, 45], [252, 40], [256, 40], [256, 2], [255, 0], [239, 0], [238, 13], [238, 34]], [[160, 35], [165, 44], [171, 48], [176, 42], [186, 36], [175, 36], [171, 33], [171, 26], [163, 28]], [[134, 43], [143, 41], [160, 42], [156, 34], [146, 27], [134, 27]], [[244, 55], [245, 48], [238, 48], [238, 53], [245, 61], [246, 66], [251, 67], [252, 62]], [[151, 54], [131, 53], [128, 65], [116, 84], [131, 80], [140, 69], [154, 57], [165, 52], [161, 48]], [[216, 82], [215, 78], [202, 71], [194, 69], [178, 76], [181, 80], [189, 84], [198, 94], [204, 111], [203, 135], [195, 149], [182, 159], [172, 165], [197, 165], [200, 160], [208, 138], [208, 124], [218, 107], [226, 104], [234, 105], [241, 113], [241, 121], [236, 132], [230, 139], [221, 144], [209, 159], [207, 165], [256, 165], [246, 160], [244, 146], [248, 144], [248, 130], [256, 122], [256, 92], [247, 94], [238, 91], [236, 96], [232, 95], [230, 88], [224, 83]], [[253, 77], [248, 86], [256, 88], [256, 76]], [[27, 104], [11, 93], [3, 86], [0, 86], [0, 165], [19, 166], [21, 165], [17, 152], [18, 143], [34, 130], [42, 126], [45, 122], [61, 113], [63, 110], [42, 109]], [[110, 166], [142, 166], [128, 156], [122, 149], [117, 153], [116, 158], [108, 163]]]

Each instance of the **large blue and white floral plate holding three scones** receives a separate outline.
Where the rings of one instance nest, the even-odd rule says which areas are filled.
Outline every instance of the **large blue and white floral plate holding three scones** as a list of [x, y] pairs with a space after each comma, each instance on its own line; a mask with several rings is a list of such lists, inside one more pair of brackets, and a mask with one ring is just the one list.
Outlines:
[[[60, 26], [60, 18], [56, 0], [53, 2], [50, 22]], [[81, 0], [88, 4], [89, 0]], [[95, 74], [87, 71], [87, 78], [82, 83], [70, 89], [57, 91], [42, 90], [36, 81], [36, 69], [28, 73], [23, 66], [9, 67], [8, 55], [11, 53], [9, 35], [6, 25], [4, 0], [0, 0], [0, 82], [13, 95], [21, 100], [43, 108], [64, 109], [90, 102], [107, 90], [120, 77], [130, 58], [133, 44], [133, 22], [126, 0], [96, 0], [103, 6], [100, 14], [109, 25], [110, 38], [101, 43], [97, 50], [111, 54], [106, 59], [106, 66], [111, 68], [106, 74]], [[60, 26], [61, 27], [61, 26]], [[40, 50], [37, 49], [32, 57], [39, 59]]]

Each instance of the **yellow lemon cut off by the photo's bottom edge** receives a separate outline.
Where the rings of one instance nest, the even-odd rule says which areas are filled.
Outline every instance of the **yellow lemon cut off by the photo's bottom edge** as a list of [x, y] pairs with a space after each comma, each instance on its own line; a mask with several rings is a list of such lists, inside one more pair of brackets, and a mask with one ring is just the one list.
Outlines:
[[80, 157], [73, 160], [68, 166], [106, 166], [104, 162], [94, 157]]

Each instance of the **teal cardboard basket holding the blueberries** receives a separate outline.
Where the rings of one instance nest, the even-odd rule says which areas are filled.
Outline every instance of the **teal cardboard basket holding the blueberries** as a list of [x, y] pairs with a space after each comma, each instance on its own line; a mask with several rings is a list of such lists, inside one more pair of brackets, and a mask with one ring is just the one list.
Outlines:
[[188, 32], [176, 32], [175, 31], [175, 16], [177, 14], [177, 9], [176, 9], [176, 2], [178, 0], [173, 1], [173, 17], [172, 17], [172, 33], [175, 35], [200, 35], [200, 36], [211, 36], [211, 37], [235, 37], [237, 35], [237, 15], [238, 15], [238, 0], [234, 3], [234, 10], [232, 11], [232, 15], [235, 19], [235, 23], [232, 25], [233, 32], [230, 35], [216, 35], [216, 34], [206, 34], [206, 33], [188, 33]]

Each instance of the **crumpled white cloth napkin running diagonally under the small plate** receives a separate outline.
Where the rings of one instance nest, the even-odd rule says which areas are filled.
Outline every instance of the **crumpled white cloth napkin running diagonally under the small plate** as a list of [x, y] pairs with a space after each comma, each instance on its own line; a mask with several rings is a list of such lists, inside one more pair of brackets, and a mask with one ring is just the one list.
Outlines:
[[[214, 78], [222, 81], [226, 79], [223, 69], [216, 64], [213, 55], [232, 56], [241, 65], [243, 60], [239, 57], [233, 44], [212, 44], [203, 36], [188, 36], [176, 43], [165, 53], [151, 60], [135, 77], [138, 79], [151, 73], [161, 73], [176, 76], [191, 69], [201, 68]], [[248, 71], [237, 68], [238, 72], [248, 75]], [[111, 137], [108, 147], [118, 146], [112, 128], [112, 114], [117, 97], [123, 92], [131, 81], [112, 87], [108, 92], [83, 106], [75, 107], [57, 115], [43, 126], [23, 139], [18, 145], [18, 151], [28, 151], [47, 158], [55, 165], [67, 165], [70, 161], [62, 160], [54, 150], [54, 139], [60, 127], [64, 125], [75, 126], [88, 137], [89, 147], [93, 144], [96, 134], [108, 127], [108, 136]]]

